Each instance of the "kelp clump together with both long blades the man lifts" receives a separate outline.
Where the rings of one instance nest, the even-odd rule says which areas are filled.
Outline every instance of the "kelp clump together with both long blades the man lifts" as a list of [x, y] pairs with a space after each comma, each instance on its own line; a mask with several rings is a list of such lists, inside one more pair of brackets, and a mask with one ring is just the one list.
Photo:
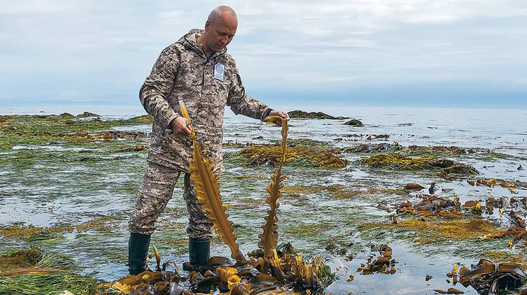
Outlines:
[[[186, 116], [190, 122], [182, 102], [181, 109], [183, 116]], [[194, 154], [190, 162], [190, 171], [191, 179], [195, 181], [198, 199], [203, 203], [207, 217], [214, 222], [215, 228], [224, 231], [224, 234], [220, 232], [222, 239], [225, 241], [224, 236], [227, 236], [227, 239], [231, 239], [227, 242], [228, 245], [231, 243], [236, 247], [231, 247], [231, 257], [238, 260], [236, 265], [229, 265], [229, 262], [222, 260], [222, 258], [211, 258], [205, 265], [200, 266], [191, 266], [187, 263], [185, 268], [193, 270], [190, 273], [190, 282], [195, 291], [212, 293], [214, 286], [219, 286], [220, 290], [229, 291], [229, 294], [248, 294], [266, 290], [288, 291], [292, 287], [293, 289], [307, 290], [310, 293], [311, 291], [320, 290], [322, 287], [322, 281], [318, 279], [319, 277], [327, 279], [327, 273], [331, 273], [328, 270], [329, 267], [322, 263], [321, 257], [315, 258], [311, 263], [306, 263], [303, 261], [301, 254], [297, 255], [294, 253], [290, 244], [286, 245], [283, 251], [278, 251], [277, 249], [278, 219], [276, 210], [279, 207], [277, 200], [281, 198], [281, 181], [285, 179], [285, 176], [281, 174], [281, 168], [286, 162], [286, 157], [284, 156], [286, 155], [288, 126], [286, 121], [279, 121], [277, 117], [268, 118], [267, 121], [272, 121], [275, 124], [281, 123], [278, 123], [282, 126], [282, 143], [279, 146], [281, 155], [279, 157], [279, 169], [277, 169], [275, 174], [272, 174], [272, 183], [267, 186], [267, 192], [269, 193], [267, 203], [270, 209], [267, 210], [265, 224], [262, 226], [263, 233], [259, 235], [260, 242], [258, 246], [261, 249], [249, 254], [250, 265], [244, 261], [243, 256], [239, 252], [238, 244], [235, 244], [236, 236], [233, 234], [232, 222], [226, 219], [228, 215], [225, 213], [226, 207], [222, 204], [222, 199], [219, 195], [217, 177], [212, 174], [210, 163], [202, 158], [198, 143], [195, 140], [195, 134], [191, 129], [191, 138], [194, 141]], [[202, 163], [202, 167], [198, 166], [199, 163]], [[210, 184], [205, 186], [202, 183]], [[217, 225], [220, 223], [223, 223], [223, 225]], [[219, 261], [220, 264], [215, 263], [215, 261]], [[254, 270], [250, 270], [250, 267], [254, 267]], [[205, 272], [205, 275], [196, 272], [196, 270], [201, 273]], [[286, 286], [289, 286], [289, 288]]]

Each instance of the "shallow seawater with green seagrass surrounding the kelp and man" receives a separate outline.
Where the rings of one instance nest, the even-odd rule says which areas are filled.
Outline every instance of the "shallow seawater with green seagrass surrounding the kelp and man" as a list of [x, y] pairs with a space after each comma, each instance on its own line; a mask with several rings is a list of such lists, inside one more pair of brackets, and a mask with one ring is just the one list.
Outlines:
[[[315, 109], [307, 109], [313, 110]], [[140, 109], [128, 109], [106, 114], [104, 109], [52, 109], [54, 113], [83, 111], [101, 114], [103, 119], [116, 119], [142, 114]], [[318, 111], [318, 109], [316, 109]], [[26, 114], [37, 114], [40, 109], [24, 109]], [[417, 109], [417, 108], [339, 108], [322, 109], [334, 116], [351, 116], [361, 119], [365, 126], [343, 125], [346, 120], [294, 119], [289, 124], [289, 139], [310, 138], [335, 147], [347, 147], [361, 143], [397, 142], [400, 145], [456, 145], [464, 148], [485, 148], [510, 155], [506, 158], [459, 157], [456, 160], [472, 164], [480, 171], [478, 177], [527, 181], [527, 111], [487, 109]], [[5, 113], [20, 114], [12, 107]], [[116, 130], [149, 131], [150, 126], [118, 127]], [[388, 134], [387, 140], [367, 140], [368, 135]], [[358, 135], [358, 136], [353, 136]], [[362, 137], [360, 135], [363, 135]], [[262, 136], [262, 138], [259, 138]], [[261, 124], [243, 116], [227, 114], [224, 142], [226, 143], [274, 143], [280, 140], [280, 129]], [[341, 138], [341, 140], [336, 140]], [[236, 152], [239, 148], [225, 148], [224, 152]], [[488, 197], [527, 196], [526, 189], [513, 194], [506, 188], [470, 186], [465, 179], [447, 181], [429, 173], [411, 171], [382, 171], [353, 163], [364, 155], [344, 153], [351, 164], [343, 169], [315, 169], [285, 165], [283, 173], [289, 177], [286, 186], [342, 184], [368, 191], [368, 188], [402, 188], [406, 183], [420, 183], [428, 187], [436, 182], [438, 192], [444, 198], [459, 195], [466, 200], [485, 200]], [[79, 160], [86, 157], [85, 160]], [[59, 239], [28, 242], [23, 239], [0, 235], [0, 246], [16, 247], [34, 244], [47, 251], [67, 253], [76, 260], [78, 271], [98, 279], [113, 280], [126, 275], [128, 217], [135, 204], [138, 188], [145, 171], [145, 152], [104, 154], [61, 145], [18, 145], [9, 152], [0, 153], [0, 224], [24, 224], [25, 226], [56, 227], [75, 226], [95, 217], [109, 216], [111, 230], [73, 231]], [[525, 167], [523, 171], [516, 169]], [[221, 176], [222, 196], [228, 206], [230, 219], [236, 224], [235, 234], [244, 253], [257, 248], [260, 226], [267, 207], [265, 187], [269, 173], [276, 168], [241, 167], [236, 160], [226, 162]], [[236, 179], [238, 174], [260, 174], [261, 178]], [[186, 209], [181, 198], [181, 187], [176, 187], [174, 198], [169, 202], [157, 223], [158, 231], [152, 236], [152, 244], [159, 248], [164, 259], [178, 263], [188, 260], [186, 253]], [[391, 232], [390, 229], [359, 231], [365, 222], [389, 222], [388, 210], [377, 208], [379, 203], [392, 204], [414, 198], [414, 195], [389, 193], [361, 193], [356, 197], [334, 198], [322, 191], [285, 195], [279, 200], [279, 241], [291, 241], [304, 255], [324, 255], [327, 263], [336, 271], [339, 280], [327, 288], [333, 294], [433, 294], [433, 289], [448, 289], [445, 274], [453, 263], [470, 266], [485, 251], [518, 253], [522, 249], [507, 247], [508, 239], [485, 242], [445, 241], [439, 245], [418, 245], [415, 234]], [[248, 204], [248, 200], [254, 203]], [[249, 206], [250, 205], [250, 206]], [[506, 217], [492, 218], [506, 224]], [[325, 250], [329, 240], [338, 248], [346, 248], [346, 254]], [[398, 261], [394, 275], [360, 275], [358, 265], [365, 263], [370, 254], [370, 244], [385, 243], [393, 248]], [[214, 243], [213, 255], [229, 256], [228, 248]], [[353, 255], [347, 261], [347, 255]], [[180, 265], [181, 266], [181, 265]], [[352, 282], [346, 282], [353, 274]], [[425, 282], [425, 275], [433, 279]], [[471, 287], [455, 286], [475, 294]]]

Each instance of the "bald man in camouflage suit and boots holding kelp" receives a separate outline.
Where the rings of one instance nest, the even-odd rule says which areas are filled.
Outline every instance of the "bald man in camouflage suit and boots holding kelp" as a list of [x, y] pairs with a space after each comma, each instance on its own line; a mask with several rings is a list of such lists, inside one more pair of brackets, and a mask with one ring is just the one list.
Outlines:
[[289, 116], [269, 109], [246, 95], [234, 59], [226, 54], [238, 27], [236, 13], [228, 6], [214, 8], [205, 30], [190, 30], [159, 55], [140, 90], [140, 101], [154, 116], [147, 171], [135, 210], [130, 217], [128, 265], [131, 275], [145, 270], [150, 235], [155, 222], [184, 173], [183, 198], [189, 214], [187, 233], [191, 265], [206, 263], [210, 253], [212, 224], [198, 203], [188, 174], [192, 157], [189, 126], [179, 109], [183, 100], [205, 157], [214, 159], [214, 172], [222, 171], [222, 137], [225, 105], [235, 114], [254, 119], [269, 115]]

